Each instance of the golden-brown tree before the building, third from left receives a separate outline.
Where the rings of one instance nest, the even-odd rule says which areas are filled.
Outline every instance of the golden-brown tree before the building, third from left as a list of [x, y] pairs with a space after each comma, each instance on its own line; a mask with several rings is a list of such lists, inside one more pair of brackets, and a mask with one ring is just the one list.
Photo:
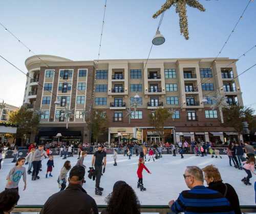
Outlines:
[[157, 108], [155, 112], [148, 114], [150, 124], [155, 127], [164, 139], [164, 123], [168, 118], [172, 117], [172, 112], [167, 108]]

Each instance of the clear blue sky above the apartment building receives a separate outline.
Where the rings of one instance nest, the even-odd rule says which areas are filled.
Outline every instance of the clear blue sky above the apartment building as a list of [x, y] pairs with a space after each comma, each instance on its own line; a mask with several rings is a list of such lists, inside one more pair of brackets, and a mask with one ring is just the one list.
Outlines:
[[[108, 0], [100, 59], [145, 59], [159, 19], [152, 15], [165, 0]], [[150, 58], [216, 57], [248, 0], [200, 0], [206, 11], [187, 8], [189, 40], [180, 35], [174, 8], [164, 14], [161, 33], [166, 41], [154, 46]], [[97, 59], [103, 0], [2, 0], [0, 22], [36, 54], [71, 60]], [[238, 58], [256, 45], [256, 1], [251, 2], [220, 57]], [[27, 73], [32, 56], [0, 27], [0, 55]], [[237, 62], [238, 74], [256, 63], [256, 48]], [[256, 66], [239, 78], [244, 105], [256, 109], [253, 85]], [[26, 76], [0, 58], [0, 101], [21, 106]]]

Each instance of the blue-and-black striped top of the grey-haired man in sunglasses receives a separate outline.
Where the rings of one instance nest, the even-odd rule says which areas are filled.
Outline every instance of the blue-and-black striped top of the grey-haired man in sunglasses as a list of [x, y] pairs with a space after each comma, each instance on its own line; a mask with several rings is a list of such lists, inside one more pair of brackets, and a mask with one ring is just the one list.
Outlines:
[[170, 209], [175, 213], [185, 212], [185, 214], [234, 214], [228, 200], [221, 193], [205, 186], [195, 186], [183, 191]]

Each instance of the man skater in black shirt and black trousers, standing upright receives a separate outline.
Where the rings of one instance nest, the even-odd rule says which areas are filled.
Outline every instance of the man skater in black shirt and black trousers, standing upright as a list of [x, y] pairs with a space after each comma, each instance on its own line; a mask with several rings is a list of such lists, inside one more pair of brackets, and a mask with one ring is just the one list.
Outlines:
[[[93, 155], [92, 159], [92, 168], [95, 169], [96, 173], [96, 184], [95, 184], [95, 195], [102, 195], [102, 191], [104, 190], [101, 188], [100, 185], [100, 178], [101, 178], [101, 172], [105, 173], [105, 167], [106, 167], [106, 153], [103, 151], [104, 146], [99, 146], [98, 151], [96, 151]], [[102, 171], [102, 161], [104, 164], [104, 168]]]

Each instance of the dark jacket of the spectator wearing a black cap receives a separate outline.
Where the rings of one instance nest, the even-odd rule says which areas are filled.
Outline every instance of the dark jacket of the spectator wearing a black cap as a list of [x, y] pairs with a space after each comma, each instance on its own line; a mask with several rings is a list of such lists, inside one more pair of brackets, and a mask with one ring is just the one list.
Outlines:
[[94, 199], [79, 184], [69, 184], [65, 191], [53, 194], [40, 214], [98, 214]]

